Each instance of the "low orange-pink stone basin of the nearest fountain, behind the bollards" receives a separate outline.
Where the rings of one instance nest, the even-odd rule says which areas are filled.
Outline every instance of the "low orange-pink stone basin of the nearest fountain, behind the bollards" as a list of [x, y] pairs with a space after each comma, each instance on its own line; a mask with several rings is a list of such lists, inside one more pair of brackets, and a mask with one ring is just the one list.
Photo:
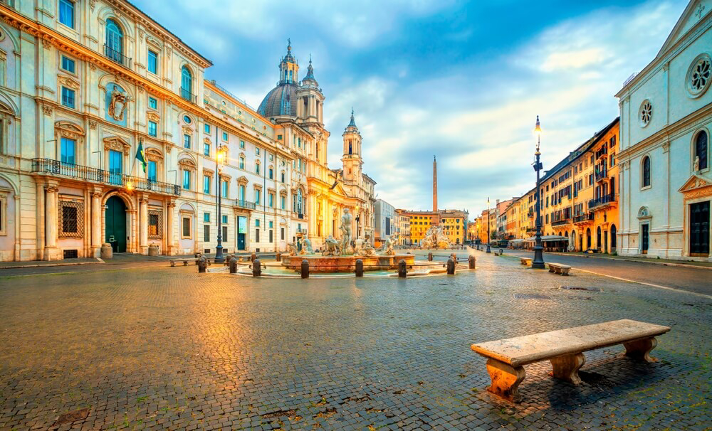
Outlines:
[[398, 262], [401, 260], [405, 260], [405, 264], [409, 267], [415, 263], [415, 255], [296, 255], [282, 256], [282, 266], [298, 271], [302, 267], [302, 261], [307, 260], [309, 262], [309, 272], [354, 272], [356, 261], [359, 259], [363, 261], [364, 271], [397, 270]]

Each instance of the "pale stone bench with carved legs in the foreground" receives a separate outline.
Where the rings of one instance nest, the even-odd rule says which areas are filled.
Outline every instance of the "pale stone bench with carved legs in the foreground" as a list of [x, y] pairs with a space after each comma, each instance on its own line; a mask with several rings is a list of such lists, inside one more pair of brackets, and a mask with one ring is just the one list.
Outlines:
[[654, 362], [656, 359], [649, 353], [657, 346], [655, 337], [669, 330], [669, 326], [622, 319], [487, 341], [473, 344], [471, 348], [487, 358], [487, 372], [492, 380], [487, 390], [518, 403], [521, 399], [519, 384], [525, 377], [523, 366], [529, 363], [551, 361], [550, 376], [577, 385], [581, 383], [579, 368], [586, 361], [583, 352], [623, 344], [625, 356]]

